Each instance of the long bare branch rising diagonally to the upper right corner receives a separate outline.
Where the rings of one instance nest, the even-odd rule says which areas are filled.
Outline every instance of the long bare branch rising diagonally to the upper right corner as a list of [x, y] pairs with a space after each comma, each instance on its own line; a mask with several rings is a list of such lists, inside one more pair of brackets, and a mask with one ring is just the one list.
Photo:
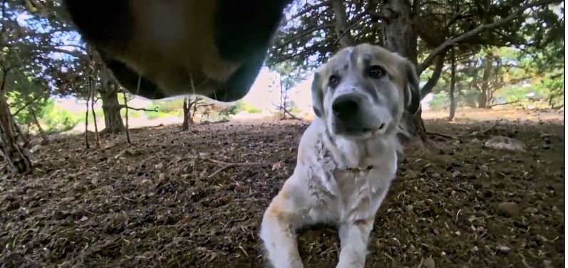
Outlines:
[[434, 50], [432, 50], [430, 55], [428, 55], [428, 57], [426, 57], [426, 59], [422, 63], [420, 63], [420, 65], [418, 67], [418, 73], [420, 74], [426, 68], [428, 68], [428, 66], [430, 66], [433, 63], [436, 56], [439, 53], [441, 53], [443, 50], [447, 49], [448, 47], [455, 45], [456, 43], [460, 43], [461, 41], [463, 41], [467, 38], [470, 38], [472, 36], [475, 36], [478, 33], [482, 33], [484, 31], [490, 30], [492, 28], [497, 28], [497, 27], [503, 26], [507, 23], [510, 23], [511, 21], [515, 20], [515, 18], [518, 18], [519, 16], [521, 16], [522, 13], [525, 12], [525, 10], [527, 10], [527, 9], [530, 9], [532, 7], [535, 7], [535, 6], [552, 4], [555, 1], [556, 0], [540, 0], [540, 1], [533, 2], [532, 4], [527, 4], [525, 6], [521, 6], [519, 9], [517, 9], [517, 11], [513, 12], [512, 14], [510, 14], [509, 16], [507, 16], [505, 18], [500, 19], [499, 21], [495, 21], [494, 23], [489, 23], [489, 24], [482, 24], [480, 26], [477, 26], [477, 28], [475, 28], [471, 31], [465, 32], [458, 37], [451, 38], [451, 39], [445, 41], [441, 45], [438, 45], [437, 48], [434, 48]]

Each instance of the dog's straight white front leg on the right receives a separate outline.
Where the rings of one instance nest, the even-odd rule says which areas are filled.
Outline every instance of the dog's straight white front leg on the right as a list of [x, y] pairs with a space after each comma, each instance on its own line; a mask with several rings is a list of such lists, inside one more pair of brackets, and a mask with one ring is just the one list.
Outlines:
[[373, 230], [374, 218], [342, 223], [339, 226], [341, 252], [337, 268], [363, 268], [367, 252], [367, 242]]

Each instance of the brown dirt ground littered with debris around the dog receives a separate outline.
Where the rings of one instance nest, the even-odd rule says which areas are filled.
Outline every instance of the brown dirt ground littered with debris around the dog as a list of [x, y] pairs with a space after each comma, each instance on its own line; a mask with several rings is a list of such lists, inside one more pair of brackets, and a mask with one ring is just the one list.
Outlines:
[[[0, 178], [0, 267], [264, 267], [259, 223], [306, 126], [135, 129], [135, 145], [108, 135], [100, 149], [60, 136], [32, 175]], [[366, 267], [562, 267], [562, 121], [426, 126], [453, 137], [407, 150]], [[496, 135], [527, 152], [485, 148]], [[306, 267], [336, 264], [332, 228], [303, 230], [299, 244]]]

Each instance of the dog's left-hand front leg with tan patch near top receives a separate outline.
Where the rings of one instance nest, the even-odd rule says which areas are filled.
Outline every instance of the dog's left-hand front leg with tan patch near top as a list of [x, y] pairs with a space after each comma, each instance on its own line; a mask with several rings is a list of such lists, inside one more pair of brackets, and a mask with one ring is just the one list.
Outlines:
[[284, 184], [282, 191], [272, 200], [262, 219], [260, 235], [269, 261], [274, 268], [302, 268], [298, 252], [296, 229], [303, 223], [299, 200], [294, 191]]

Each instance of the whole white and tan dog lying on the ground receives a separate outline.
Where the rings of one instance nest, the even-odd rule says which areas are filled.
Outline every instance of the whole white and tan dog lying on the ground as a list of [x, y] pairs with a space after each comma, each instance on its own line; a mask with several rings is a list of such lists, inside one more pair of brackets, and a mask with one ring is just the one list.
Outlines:
[[397, 170], [403, 111], [420, 107], [413, 64], [376, 45], [344, 48], [314, 75], [317, 118], [292, 176], [264, 213], [261, 237], [276, 268], [304, 267], [296, 230], [339, 227], [337, 267], [363, 267], [375, 214]]

